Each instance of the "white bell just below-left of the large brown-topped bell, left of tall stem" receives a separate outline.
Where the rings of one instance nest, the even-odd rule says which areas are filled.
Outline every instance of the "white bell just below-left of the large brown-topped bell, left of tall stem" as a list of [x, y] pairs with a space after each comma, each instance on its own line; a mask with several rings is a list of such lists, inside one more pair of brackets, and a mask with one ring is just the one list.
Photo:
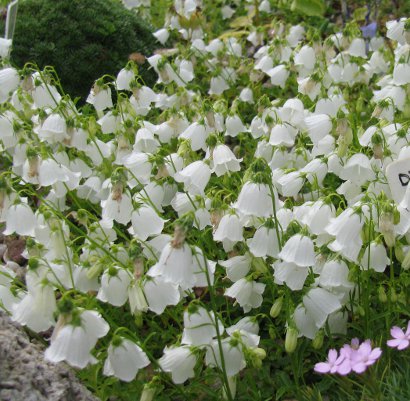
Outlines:
[[168, 305], [176, 305], [181, 300], [178, 284], [158, 276], [144, 282], [144, 293], [148, 308], [160, 315]]

